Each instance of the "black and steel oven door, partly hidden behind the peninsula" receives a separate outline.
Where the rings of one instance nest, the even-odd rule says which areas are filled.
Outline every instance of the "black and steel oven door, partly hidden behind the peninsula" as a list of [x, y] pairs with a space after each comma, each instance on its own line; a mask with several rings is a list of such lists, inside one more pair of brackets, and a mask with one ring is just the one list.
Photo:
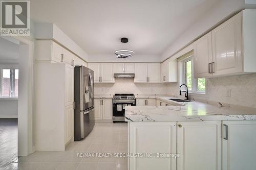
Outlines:
[[125, 106], [135, 106], [135, 100], [113, 99], [113, 122], [124, 122]]

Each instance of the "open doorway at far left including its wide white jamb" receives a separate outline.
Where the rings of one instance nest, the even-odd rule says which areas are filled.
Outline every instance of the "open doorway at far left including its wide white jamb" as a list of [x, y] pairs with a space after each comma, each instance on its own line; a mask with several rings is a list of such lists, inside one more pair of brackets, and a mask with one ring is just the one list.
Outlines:
[[0, 37], [0, 169], [33, 152], [33, 41]]

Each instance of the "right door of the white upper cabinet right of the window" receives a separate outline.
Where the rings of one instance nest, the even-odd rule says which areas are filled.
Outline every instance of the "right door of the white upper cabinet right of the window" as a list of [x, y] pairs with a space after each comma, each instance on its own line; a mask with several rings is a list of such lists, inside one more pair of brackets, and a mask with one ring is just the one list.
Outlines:
[[214, 76], [243, 71], [241, 22], [239, 13], [211, 32]]

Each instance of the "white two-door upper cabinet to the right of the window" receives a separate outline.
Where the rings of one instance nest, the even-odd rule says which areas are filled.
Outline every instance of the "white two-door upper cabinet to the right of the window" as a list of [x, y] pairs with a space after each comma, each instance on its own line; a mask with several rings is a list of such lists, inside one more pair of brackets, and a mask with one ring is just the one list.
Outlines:
[[194, 43], [195, 77], [256, 72], [255, 46], [256, 10], [243, 10]]

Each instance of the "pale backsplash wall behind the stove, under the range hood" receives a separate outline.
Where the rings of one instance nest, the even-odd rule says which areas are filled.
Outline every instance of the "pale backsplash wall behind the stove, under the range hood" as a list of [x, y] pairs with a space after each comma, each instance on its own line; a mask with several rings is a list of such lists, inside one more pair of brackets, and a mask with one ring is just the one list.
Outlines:
[[94, 93], [115, 94], [134, 93], [136, 94], [166, 94], [168, 88], [177, 83], [134, 83], [134, 79], [116, 78], [115, 83], [95, 83]]

